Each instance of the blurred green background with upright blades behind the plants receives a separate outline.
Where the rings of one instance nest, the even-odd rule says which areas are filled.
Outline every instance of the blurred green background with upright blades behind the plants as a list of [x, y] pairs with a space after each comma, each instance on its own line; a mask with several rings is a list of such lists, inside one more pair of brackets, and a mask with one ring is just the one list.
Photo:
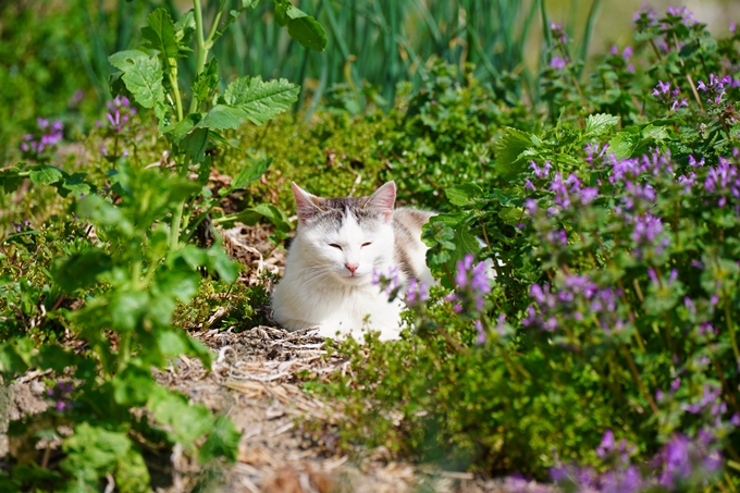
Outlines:
[[[227, 0], [236, 7], [237, 0]], [[205, 0], [210, 20], [217, 1]], [[238, 2], [240, 3], [240, 2]], [[658, 11], [673, 1], [640, 0], [294, 0], [314, 15], [329, 38], [325, 52], [292, 41], [272, 21], [271, 2], [239, 17], [217, 42], [224, 83], [237, 75], [301, 83], [298, 108], [354, 99], [345, 107], [390, 104], [399, 82], [419, 87], [431, 57], [473, 63], [477, 77], [506, 94], [536, 99], [546, 48], [543, 25], [562, 22], [574, 58], [588, 60], [612, 44], [631, 42], [641, 4]], [[686, 2], [715, 34], [740, 23], [737, 0]], [[157, 7], [177, 17], [181, 0], [0, 1], [0, 159], [17, 158], [21, 137], [36, 118], [61, 119], [67, 137], [100, 116], [110, 97], [108, 56], [139, 42], [138, 28]], [[208, 21], [207, 21], [208, 22]], [[724, 33], [723, 33], [724, 34]], [[185, 84], [194, 67], [181, 62]], [[361, 97], [357, 97], [360, 95]]]

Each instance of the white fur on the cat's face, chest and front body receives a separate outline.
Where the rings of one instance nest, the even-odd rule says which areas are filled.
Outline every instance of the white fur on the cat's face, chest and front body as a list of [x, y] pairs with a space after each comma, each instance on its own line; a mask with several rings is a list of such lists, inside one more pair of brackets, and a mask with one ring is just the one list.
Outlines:
[[[274, 319], [288, 330], [317, 326], [324, 337], [338, 332], [361, 340], [362, 330], [372, 329], [381, 340], [397, 338], [404, 305], [390, 303], [371, 282], [373, 270], [393, 267], [393, 252], [390, 221], [375, 231], [362, 229], [351, 214], [338, 231], [299, 225], [273, 294]], [[346, 264], [357, 266], [354, 274]]]

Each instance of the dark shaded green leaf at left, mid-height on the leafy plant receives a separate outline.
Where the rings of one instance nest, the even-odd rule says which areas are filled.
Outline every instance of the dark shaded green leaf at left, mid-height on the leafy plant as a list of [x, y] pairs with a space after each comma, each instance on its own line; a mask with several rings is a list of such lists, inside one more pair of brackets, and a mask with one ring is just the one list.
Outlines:
[[100, 248], [54, 260], [51, 273], [65, 293], [84, 289], [100, 281], [113, 268], [111, 257]]

